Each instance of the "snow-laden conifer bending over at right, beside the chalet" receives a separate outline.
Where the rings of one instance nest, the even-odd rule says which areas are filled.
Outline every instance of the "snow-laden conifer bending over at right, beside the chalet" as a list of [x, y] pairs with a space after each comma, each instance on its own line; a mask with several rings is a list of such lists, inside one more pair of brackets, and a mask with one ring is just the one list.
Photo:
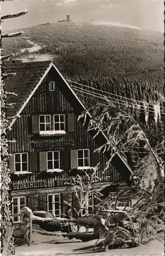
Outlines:
[[[117, 244], [121, 244], [121, 246], [130, 243], [132, 246], [138, 245], [144, 237], [161, 240], [160, 234], [164, 230], [163, 160], [150, 145], [141, 124], [130, 114], [127, 114], [125, 110], [122, 110], [119, 105], [115, 105], [105, 98], [105, 103], [97, 103], [85, 110], [79, 116], [79, 119], [84, 118], [86, 121], [89, 112], [92, 117], [88, 125], [88, 131], [95, 131], [95, 136], [99, 132], [103, 132], [107, 138], [106, 143], [95, 150], [110, 153], [103, 172], [109, 167], [109, 163], [118, 152], [121, 154], [121, 152], [129, 151], [132, 147], [138, 148], [139, 145], [143, 145], [143, 150], [146, 153], [146, 156], [141, 158], [137, 164], [132, 177], [132, 180], [140, 179], [140, 184], [132, 184], [130, 187], [132, 207], [126, 210], [128, 205], [128, 202], [126, 202], [123, 210], [118, 210], [116, 205], [119, 197], [117, 196], [115, 208], [105, 209], [111, 214], [109, 222], [118, 216], [122, 219], [120, 222], [122, 225], [115, 228], [110, 227], [108, 231], [106, 230], [102, 234], [101, 237], [105, 238], [103, 248], [106, 249], [107, 246], [111, 248]], [[123, 157], [126, 158], [126, 155], [123, 155]], [[117, 214], [116, 217], [114, 217], [114, 214]]]

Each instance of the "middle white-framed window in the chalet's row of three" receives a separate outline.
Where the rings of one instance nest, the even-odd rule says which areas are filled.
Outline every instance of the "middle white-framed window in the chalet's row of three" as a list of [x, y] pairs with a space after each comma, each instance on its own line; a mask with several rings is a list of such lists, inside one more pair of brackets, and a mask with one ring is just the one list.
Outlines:
[[60, 168], [60, 151], [47, 152], [47, 170]]

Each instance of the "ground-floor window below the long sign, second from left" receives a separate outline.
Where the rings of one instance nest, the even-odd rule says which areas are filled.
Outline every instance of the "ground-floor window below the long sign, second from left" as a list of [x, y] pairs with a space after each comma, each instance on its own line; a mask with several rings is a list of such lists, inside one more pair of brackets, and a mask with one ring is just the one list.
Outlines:
[[47, 210], [51, 212], [54, 217], [61, 216], [60, 209], [60, 194], [47, 195]]

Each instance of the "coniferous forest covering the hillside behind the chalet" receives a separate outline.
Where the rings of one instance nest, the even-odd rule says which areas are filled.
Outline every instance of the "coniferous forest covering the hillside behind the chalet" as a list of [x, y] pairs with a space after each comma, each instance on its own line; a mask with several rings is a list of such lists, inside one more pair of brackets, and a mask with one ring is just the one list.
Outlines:
[[[41, 47], [35, 54], [54, 55], [56, 66], [66, 78], [114, 94], [109, 95], [112, 97], [111, 100], [120, 99], [120, 107], [141, 123], [151, 145], [159, 147], [158, 153], [162, 154], [165, 111], [160, 102], [161, 118], [158, 117], [155, 121], [153, 104], [161, 101], [157, 93], [164, 95], [163, 34], [92, 22], [45, 24], [25, 28], [23, 31], [21, 41], [20, 38], [14, 38], [11, 44], [11, 38], [5, 40], [5, 55], [13, 52], [17, 57], [28, 55], [28, 50], [23, 53], [20, 51], [31, 47], [26, 38], [37, 42]], [[92, 92], [104, 95], [101, 91], [88, 89], [79, 84], [72, 85], [75, 86], [73, 89], [90, 90], [91, 95]], [[82, 91], [76, 93], [82, 95], [86, 105], [96, 103], [98, 97], [90, 101], [90, 96], [85, 90], [83, 94]], [[93, 95], [96, 95], [94, 93]], [[126, 98], [150, 103], [147, 107], [147, 122], [143, 103], [139, 102], [139, 108], [134, 108], [130, 103], [133, 101]], [[141, 152], [139, 156], [142, 157], [144, 154]]]

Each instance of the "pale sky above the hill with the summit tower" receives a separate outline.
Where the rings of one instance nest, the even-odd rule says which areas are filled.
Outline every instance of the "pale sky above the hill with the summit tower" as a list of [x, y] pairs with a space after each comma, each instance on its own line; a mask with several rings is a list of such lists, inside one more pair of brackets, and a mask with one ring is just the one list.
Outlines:
[[5, 19], [2, 31], [72, 20], [118, 22], [164, 32], [163, 0], [13, 0], [1, 2], [1, 15], [28, 9], [21, 17]]

